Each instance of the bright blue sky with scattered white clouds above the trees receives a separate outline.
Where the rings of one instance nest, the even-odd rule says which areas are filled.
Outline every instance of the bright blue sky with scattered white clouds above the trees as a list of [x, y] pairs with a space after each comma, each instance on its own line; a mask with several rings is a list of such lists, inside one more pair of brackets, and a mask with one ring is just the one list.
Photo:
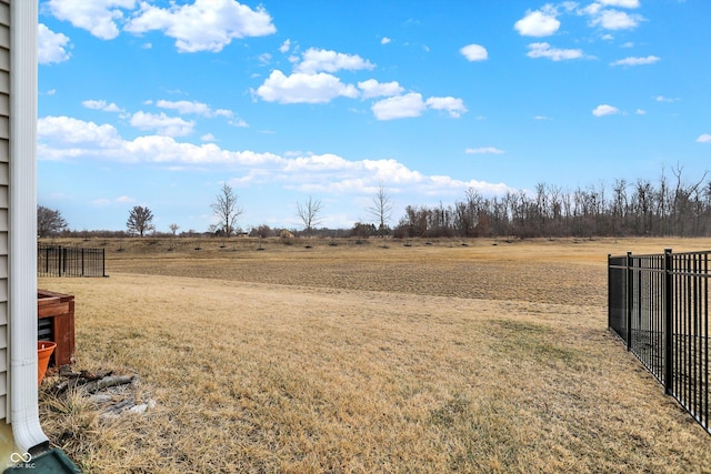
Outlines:
[[[711, 169], [708, 0], [42, 0], [38, 203], [74, 230], [373, 222]], [[631, 192], [631, 191], [630, 191]]]

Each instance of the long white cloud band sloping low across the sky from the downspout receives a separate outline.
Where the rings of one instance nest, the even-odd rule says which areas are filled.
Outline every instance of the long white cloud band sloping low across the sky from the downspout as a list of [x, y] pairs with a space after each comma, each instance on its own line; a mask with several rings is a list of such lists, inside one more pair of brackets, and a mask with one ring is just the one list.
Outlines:
[[[111, 125], [97, 125], [68, 117], [39, 120], [38, 158], [40, 160], [101, 160], [111, 162], [153, 163], [170, 169], [219, 169], [239, 175], [240, 185], [270, 183], [283, 189], [309, 192], [328, 191], [372, 195], [379, 182], [394, 193], [413, 196], [461, 195], [473, 188], [482, 193], [505, 193], [511, 188], [502, 183], [462, 181], [448, 175], [425, 175], [392, 160], [351, 161], [332, 153], [258, 153], [250, 150], [227, 150], [212, 143], [211, 134], [202, 135], [200, 144], [180, 142], [171, 137], [147, 135], [123, 140]], [[370, 198], [368, 198], [370, 199]], [[131, 200], [126, 198], [126, 200]], [[101, 203], [116, 201], [114, 198]]]

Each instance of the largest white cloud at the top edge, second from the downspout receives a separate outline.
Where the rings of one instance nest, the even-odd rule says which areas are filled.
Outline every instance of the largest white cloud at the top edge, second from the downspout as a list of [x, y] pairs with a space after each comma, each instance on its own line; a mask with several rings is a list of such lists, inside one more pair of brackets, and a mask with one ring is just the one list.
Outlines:
[[234, 0], [196, 0], [182, 6], [171, 2], [169, 8], [141, 2], [140, 11], [124, 29], [133, 33], [162, 31], [176, 39], [180, 52], [219, 52], [233, 39], [274, 33], [271, 20], [263, 7], [252, 10]]

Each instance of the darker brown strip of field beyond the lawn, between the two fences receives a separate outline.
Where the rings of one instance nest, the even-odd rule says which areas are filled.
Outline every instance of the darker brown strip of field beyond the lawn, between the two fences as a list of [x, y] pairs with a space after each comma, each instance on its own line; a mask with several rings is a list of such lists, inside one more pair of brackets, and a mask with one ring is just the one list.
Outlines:
[[[108, 272], [382, 291], [433, 296], [523, 300], [601, 305], [607, 301], [605, 255], [548, 261], [535, 249], [504, 246], [371, 248], [350, 252], [320, 248], [293, 252], [204, 252], [126, 258], [112, 255]], [[530, 253], [527, 255], [527, 253]]]

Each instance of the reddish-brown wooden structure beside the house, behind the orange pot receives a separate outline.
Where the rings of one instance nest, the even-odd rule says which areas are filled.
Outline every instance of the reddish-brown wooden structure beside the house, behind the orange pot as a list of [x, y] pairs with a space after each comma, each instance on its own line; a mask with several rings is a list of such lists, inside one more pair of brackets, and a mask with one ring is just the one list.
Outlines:
[[37, 291], [37, 329], [39, 341], [57, 343], [50, 366], [74, 361], [74, 296], [47, 290]]

